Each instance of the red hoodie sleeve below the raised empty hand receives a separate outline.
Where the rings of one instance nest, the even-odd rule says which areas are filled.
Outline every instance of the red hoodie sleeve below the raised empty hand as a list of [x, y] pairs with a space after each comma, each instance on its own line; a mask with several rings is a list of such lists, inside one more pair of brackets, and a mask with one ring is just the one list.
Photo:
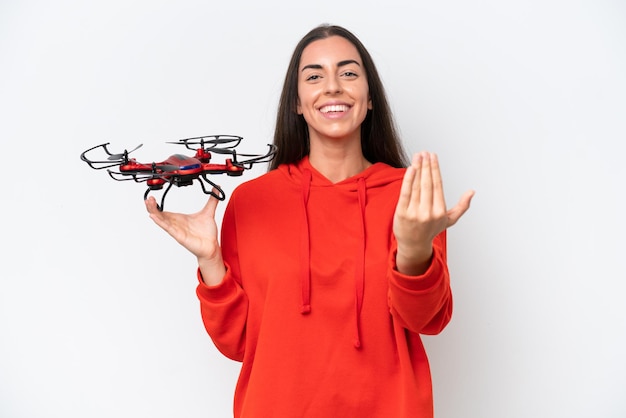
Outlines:
[[395, 238], [389, 258], [389, 306], [394, 320], [409, 331], [435, 335], [452, 318], [452, 292], [446, 257], [446, 231], [433, 240], [433, 257], [421, 276], [407, 276], [396, 268]]

